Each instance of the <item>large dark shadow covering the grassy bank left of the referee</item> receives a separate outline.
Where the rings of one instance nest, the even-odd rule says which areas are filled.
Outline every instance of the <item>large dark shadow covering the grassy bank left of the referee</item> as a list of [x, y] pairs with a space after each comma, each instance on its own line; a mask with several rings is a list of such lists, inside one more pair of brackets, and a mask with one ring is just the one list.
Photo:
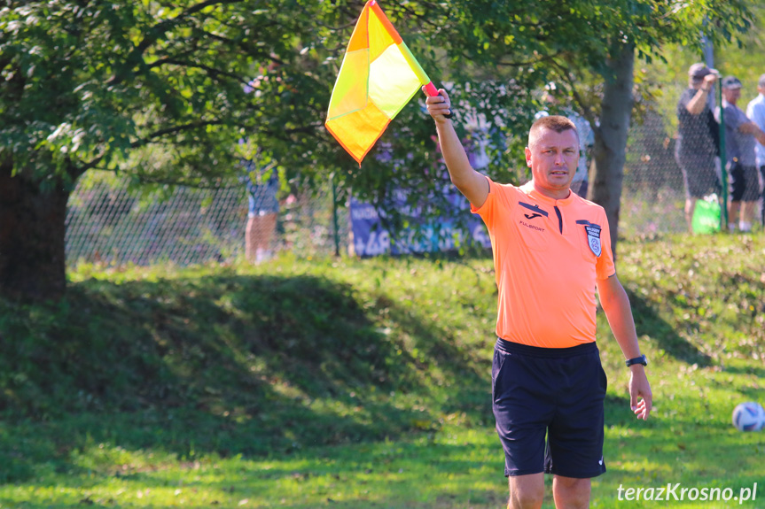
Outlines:
[[[460, 366], [469, 352], [386, 306], [455, 382], [450, 397], [484, 412], [485, 381]], [[98, 443], [226, 457], [431, 428], [437, 405], [407, 398], [431, 397], [425, 366], [376, 311], [323, 278], [237, 274], [90, 280], [59, 304], [0, 302], [0, 337], [12, 338], [0, 360], [0, 482], [41, 464], [76, 473], [73, 453]]]

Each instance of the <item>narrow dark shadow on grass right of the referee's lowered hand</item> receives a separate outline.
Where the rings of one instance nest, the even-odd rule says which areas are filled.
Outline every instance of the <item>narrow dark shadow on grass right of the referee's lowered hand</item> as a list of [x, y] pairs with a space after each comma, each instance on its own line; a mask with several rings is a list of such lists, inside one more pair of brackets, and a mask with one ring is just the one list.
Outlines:
[[667, 320], [661, 318], [651, 303], [635, 292], [627, 289], [629, 302], [635, 317], [635, 328], [638, 337], [648, 335], [656, 345], [668, 355], [688, 364], [698, 364], [701, 367], [711, 366], [712, 359], [706, 353], [699, 351], [696, 345], [678, 335], [675, 328]]

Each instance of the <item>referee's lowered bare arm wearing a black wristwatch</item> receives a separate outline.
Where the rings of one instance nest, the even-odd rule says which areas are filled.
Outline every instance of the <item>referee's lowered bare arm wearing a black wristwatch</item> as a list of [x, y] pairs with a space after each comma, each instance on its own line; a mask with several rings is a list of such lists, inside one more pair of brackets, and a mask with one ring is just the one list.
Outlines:
[[[611, 326], [624, 359], [640, 357], [640, 346], [637, 344], [635, 320], [632, 318], [629, 298], [616, 274], [605, 280], [597, 280], [597, 295], [600, 297], [600, 305], [603, 306], [608, 325]], [[651, 413], [653, 399], [651, 385], [645, 376], [643, 365], [633, 364], [629, 366], [629, 369], [632, 371], [629, 379], [629, 404], [638, 419], [646, 420]], [[638, 400], [638, 397], [642, 400]]]

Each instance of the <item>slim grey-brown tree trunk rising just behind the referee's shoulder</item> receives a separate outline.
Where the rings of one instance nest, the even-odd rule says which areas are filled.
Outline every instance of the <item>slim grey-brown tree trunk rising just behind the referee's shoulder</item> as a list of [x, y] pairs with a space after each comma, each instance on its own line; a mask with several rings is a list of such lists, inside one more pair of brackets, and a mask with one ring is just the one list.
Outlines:
[[613, 52], [607, 62], [600, 126], [595, 130], [595, 173], [589, 187], [589, 200], [601, 205], [608, 217], [611, 229], [611, 249], [616, 258], [616, 241], [619, 236], [619, 209], [621, 206], [621, 181], [624, 177], [625, 152], [629, 120], [632, 115], [633, 69], [635, 48], [622, 45]]

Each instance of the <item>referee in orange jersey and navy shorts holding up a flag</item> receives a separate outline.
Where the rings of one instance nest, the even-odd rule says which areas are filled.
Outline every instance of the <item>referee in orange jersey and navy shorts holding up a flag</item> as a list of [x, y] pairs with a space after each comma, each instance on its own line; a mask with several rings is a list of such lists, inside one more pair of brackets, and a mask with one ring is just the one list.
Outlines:
[[428, 97], [451, 181], [486, 223], [499, 290], [492, 399], [510, 480], [510, 509], [539, 508], [553, 474], [558, 509], [589, 507], [590, 479], [605, 472], [606, 378], [595, 343], [595, 289], [624, 353], [629, 401], [648, 419], [652, 394], [627, 293], [616, 276], [603, 207], [569, 189], [579, 162], [566, 117], [528, 133], [532, 180], [497, 184], [472, 169], [452, 126], [449, 96]]

